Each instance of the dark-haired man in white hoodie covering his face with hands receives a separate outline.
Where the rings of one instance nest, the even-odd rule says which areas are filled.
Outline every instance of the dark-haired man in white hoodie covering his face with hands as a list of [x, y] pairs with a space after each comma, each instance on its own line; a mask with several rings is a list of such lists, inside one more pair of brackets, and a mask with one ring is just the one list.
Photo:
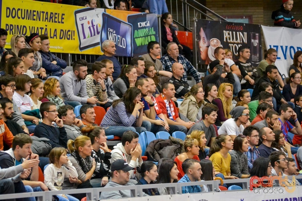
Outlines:
[[121, 140], [122, 142], [114, 146], [111, 151], [111, 163], [118, 159], [125, 160], [130, 167], [133, 167], [133, 170], [129, 171], [130, 179], [136, 179], [139, 175], [136, 169], [143, 164], [142, 148], [138, 144], [138, 134], [131, 130], [126, 131], [123, 133]]

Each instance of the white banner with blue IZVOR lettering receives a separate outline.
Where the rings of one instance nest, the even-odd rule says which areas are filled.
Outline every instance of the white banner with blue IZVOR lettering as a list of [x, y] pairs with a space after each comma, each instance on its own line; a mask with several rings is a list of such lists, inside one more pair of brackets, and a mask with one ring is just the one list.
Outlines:
[[266, 49], [274, 48], [278, 52], [275, 65], [281, 74], [288, 77], [289, 66], [293, 64], [296, 51], [302, 51], [302, 30], [287, 27], [261, 26]]

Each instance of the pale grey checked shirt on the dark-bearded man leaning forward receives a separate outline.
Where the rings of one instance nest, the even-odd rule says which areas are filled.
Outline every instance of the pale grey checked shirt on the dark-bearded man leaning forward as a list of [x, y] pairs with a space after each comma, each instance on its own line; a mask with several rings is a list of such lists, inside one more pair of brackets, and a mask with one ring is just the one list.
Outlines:
[[61, 96], [64, 100], [79, 101], [86, 104], [89, 98], [86, 90], [86, 80], [79, 80], [73, 71], [65, 73], [60, 78]]

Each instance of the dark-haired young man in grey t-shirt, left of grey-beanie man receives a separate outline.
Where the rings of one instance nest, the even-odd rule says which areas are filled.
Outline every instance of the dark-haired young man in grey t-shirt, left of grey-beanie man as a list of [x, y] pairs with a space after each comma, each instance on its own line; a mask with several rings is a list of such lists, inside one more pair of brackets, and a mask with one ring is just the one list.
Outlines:
[[195, 123], [187, 134], [191, 134], [194, 130], [204, 131], [207, 139], [206, 146], [210, 147], [210, 142], [216, 138], [216, 131], [213, 125], [217, 119], [217, 111], [218, 107], [216, 105], [207, 103], [202, 108], [202, 120]]

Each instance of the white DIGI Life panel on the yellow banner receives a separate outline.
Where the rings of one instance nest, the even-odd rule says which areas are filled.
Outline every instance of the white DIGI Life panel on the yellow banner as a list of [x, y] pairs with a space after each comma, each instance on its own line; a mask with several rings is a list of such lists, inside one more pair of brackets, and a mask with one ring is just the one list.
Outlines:
[[99, 46], [102, 30], [103, 8], [82, 8], [75, 11], [76, 30], [79, 38], [80, 51]]

